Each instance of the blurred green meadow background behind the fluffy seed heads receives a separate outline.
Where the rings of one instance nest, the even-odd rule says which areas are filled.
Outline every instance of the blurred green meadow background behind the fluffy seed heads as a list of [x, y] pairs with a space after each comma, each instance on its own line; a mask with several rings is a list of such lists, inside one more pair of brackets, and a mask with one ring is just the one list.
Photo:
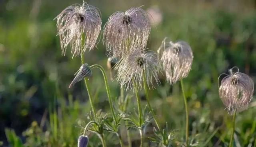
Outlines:
[[[152, 13], [147, 48], [156, 51], [164, 37], [190, 44], [194, 62], [184, 79], [190, 109], [190, 132], [210, 136], [210, 146], [229, 141], [231, 116], [218, 96], [218, 76], [237, 66], [256, 81], [256, 1], [255, 0], [88, 0], [102, 13], [102, 27], [116, 11], [130, 7]], [[80, 67], [80, 58], [67, 50], [61, 56], [54, 18], [67, 6], [82, 0], [0, 0], [0, 146], [76, 146], [90, 110], [83, 82], [68, 85]], [[86, 63], [105, 69], [108, 57], [102, 44], [85, 53]], [[102, 75], [90, 78], [97, 109], [107, 112], [108, 101]], [[108, 71], [110, 79], [110, 72]], [[184, 137], [184, 106], [180, 84], [164, 81], [151, 90], [152, 104], [162, 126]], [[118, 98], [120, 88], [110, 86]], [[129, 93], [129, 92], [127, 92]], [[142, 102], [144, 100], [141, 92]], [[135, 99], [130, 110], [136, 107]], [[256, 137], [256, 100], [238, 114], [235, 141], [240, 147], [253, 145]], [[207, 134], [207, 135], [206, 135]], [[111, 140], [111, 135], [109, 135]], [[125, 137], [124, 137], [125, 138]], [[205, 137], [206, 138], [206, 137]], [[97, 140], [92, 137], [92, 140]], [[195, 137], [195, 139], [197, 139]], [[200, 137], [203, 139], [203, 137]], [[199, 140], [200, 140], [199, 139]], [[133, 138], [136, 141], [136, 135]], [[111, 140], [115, 144], [115, 141]], [[200, 142], [200, 141], [199, 141]], [[116, 143], [118, 144], [118, 143]], [[97, 146], [90, 144], [91, 146]], [[237, 145], [237, 147], [239, 147]]]

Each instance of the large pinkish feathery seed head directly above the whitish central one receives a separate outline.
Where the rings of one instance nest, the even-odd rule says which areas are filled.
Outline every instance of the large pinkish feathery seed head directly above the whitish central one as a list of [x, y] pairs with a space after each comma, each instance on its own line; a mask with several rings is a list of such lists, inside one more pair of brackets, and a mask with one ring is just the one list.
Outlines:
[[150, 35], [149, 15], [141, 7], [115, 12], [104, 25], [103, 35], [107, 52], [114, 57], [144, 49]]

